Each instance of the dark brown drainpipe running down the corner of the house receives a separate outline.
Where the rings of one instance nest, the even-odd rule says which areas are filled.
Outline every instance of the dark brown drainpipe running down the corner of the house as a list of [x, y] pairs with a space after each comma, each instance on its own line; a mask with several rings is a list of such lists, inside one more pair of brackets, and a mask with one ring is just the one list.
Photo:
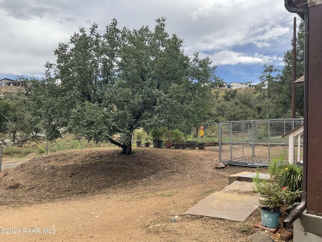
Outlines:
[[306, 209], [307, 192], [307, 110], [308, 110], [308, 12], [305, 9], [295, 8], [291, 0], [284, 0], [284, 6], [290, 13], [298, 14], [304, 20], [304, 133], [303, 133], [303, 181], [302, 181], [302, 201], [291, 213], [284, 219], [283, 227], [289, 228], [293, 222], [301, 216]]

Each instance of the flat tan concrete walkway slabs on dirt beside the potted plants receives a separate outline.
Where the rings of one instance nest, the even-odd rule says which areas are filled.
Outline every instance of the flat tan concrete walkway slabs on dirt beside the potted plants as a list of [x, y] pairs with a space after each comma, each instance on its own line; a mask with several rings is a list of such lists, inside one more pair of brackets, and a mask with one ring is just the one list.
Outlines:
[[253, 184], [234, 181], [221, 192], [215, 192], [201, 200], [185, 213], [245, 221], [259, 206], [258, 195], [253, 193]]

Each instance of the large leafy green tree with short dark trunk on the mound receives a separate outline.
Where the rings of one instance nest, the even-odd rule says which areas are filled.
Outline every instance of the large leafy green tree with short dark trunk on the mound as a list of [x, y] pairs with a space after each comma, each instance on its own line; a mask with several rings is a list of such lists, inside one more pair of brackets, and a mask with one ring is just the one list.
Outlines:
[[81, 28], [68, 43], [59, 43], [43, 80], [33, 81], [30, 110], [49, 140], [67, 127], [130, 154], [135, 129], [176, 128], [209, 113], [205, 103], [222, 80], [209, 57], [189, 57], [183, 43], [166, 32], [165, 18], [153, 30], [119, 29], [116, 19], [104, 34], [97, 24], [89, 33]]

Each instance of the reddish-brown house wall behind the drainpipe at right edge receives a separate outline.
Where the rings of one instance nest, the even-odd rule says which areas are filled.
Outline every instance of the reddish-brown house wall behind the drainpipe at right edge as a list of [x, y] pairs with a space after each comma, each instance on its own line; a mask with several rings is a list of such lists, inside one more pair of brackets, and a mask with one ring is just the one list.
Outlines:
[[[307, 213], [322, 216], [322, 4], [309, 8]], [[322, 229], [321, 229], [322, 230]]]

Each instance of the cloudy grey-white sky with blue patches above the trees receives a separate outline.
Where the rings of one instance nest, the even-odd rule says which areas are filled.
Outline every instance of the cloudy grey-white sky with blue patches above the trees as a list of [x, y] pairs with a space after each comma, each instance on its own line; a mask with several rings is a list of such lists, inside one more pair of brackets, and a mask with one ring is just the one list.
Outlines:
[[0, 0], [0, 80], [44, 76], [53, 50], [79, 27], [95, 22], [103, 33], [116, 18], [120, 28], [153, 28], [166, 17], [188, 55], [208, 55], [227, 83], [256, 84], [265, 64], [283, 68], [294, 16], [283, 0]]

